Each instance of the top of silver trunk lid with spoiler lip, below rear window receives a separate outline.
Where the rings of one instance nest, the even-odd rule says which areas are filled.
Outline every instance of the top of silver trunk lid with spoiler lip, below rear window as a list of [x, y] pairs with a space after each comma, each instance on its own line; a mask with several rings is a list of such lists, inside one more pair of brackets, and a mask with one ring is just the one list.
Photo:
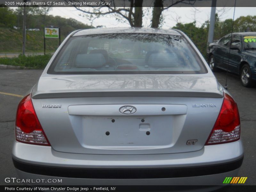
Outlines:
[[[182, 77], [182, 78], [181, 78]], [[146, 94], [145, 94], [146, 93]], [[106, 96], [178, 96], [222, 98], [222, 88], [209, 74], [197, 75], [50, 75], [43, 74], [33, 99]]]

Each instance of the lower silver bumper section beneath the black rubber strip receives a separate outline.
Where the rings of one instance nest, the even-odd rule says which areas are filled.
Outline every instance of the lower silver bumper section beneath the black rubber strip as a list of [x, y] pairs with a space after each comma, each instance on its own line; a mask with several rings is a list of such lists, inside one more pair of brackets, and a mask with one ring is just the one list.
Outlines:
[[[28, 185], [83, 185], [83, 186], [99, 186], [99, 185], [105, 185], [105, 186], [118, 186], [118, 185], [143, 185], [143, 186], [159, 186], [159, 185], [168, 185], [168, 186], [174, 186], [179, 185], [180, 186], [186, 186], [189, 187], [189, 190], [184, 191], [195, 191], [199, 192], [197, 188], [194, 188], [194, 190], [191, 190], [193, 188], [192, 185], [195, 187], [202, 187], [205, 186], [205, 188], [209, 187], [224, 187], [227, 186], [227, 184], [223, 184], [223, 181], [226, 177], [236, 177], [238, 175], [238, 169], [225, 172], [225, 173], [219, 173], [219, 174], [213, 174], [213, 175], [204, 175], [204, 176], [196, 176], [196, 177], [179, 177], [179, 178], [156, 178], [156, 179], [88, 179], [88, 178], [71, 178], [71, 177], [53, 177], [53, 176], [47, 176], [47, 175], [41, 175], [41, 174], [33, 174], [28, 172], [23, 172], [17, 169], [17, 173], [20, 178], [24, 179], [25, 181], [28, 179], [30, 180], [29, 183], [25, 183]], [[33, 181], [32, 181], [33, 180]], [[54, 182], [55, 180], [55, 182]], [[58, 182], [56, 182], [58, 181]], [[61, 181], [61, 182], [59, 182]], [[24, 183], [23, 183], [24, 184]], [[186, 185], [186, 186], [185, 186]], [[128, 188], [124, 191], [140, 191], [138, 188], [135, 188], [133, 190], [128, 190]], [[118, 188], [117, 188], [118, 189]], [[148, 191], [152, 191], [153, 188], [151, 188]], [[216, 188], [212, 188], [209, 191], [212, 191]], [[143, 189], [145, 191], [145, 189]], [[141, 190], [142, 191], [142, 190]], [[156, 191], [161, 191], [160, 188], [157, 188]], [[166, 190], [165, 190], [166, 191]], [[170, 190], [171, 191], [171, 190]], [[172, 190], [173, 191], [173, 190]], [[178, 191], [177, 189], [175, 191]], [[208, 191], [207, 189], [202, 190], [203, 192]]]

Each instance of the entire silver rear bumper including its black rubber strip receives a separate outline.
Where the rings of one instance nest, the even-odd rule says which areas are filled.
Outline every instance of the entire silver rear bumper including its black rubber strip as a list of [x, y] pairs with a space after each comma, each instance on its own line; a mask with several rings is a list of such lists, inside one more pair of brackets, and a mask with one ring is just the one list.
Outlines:
[[179, 154], [76, 154], [17, 141], [12, 151], [20, 178], [61, 178], [62, 185], [222, 185], [237, 176], [243, 156], [241, 140]]

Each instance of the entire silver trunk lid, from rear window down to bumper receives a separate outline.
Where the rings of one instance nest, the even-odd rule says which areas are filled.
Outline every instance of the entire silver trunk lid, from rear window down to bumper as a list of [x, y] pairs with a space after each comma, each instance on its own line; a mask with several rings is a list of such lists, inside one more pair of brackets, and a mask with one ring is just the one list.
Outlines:
[[[202, 75], [47, 76], [32, 101], [57, 151], [160, 154], [203, 148], [222, 94]], [[123, 114], [125, 106], [136, 112]]]

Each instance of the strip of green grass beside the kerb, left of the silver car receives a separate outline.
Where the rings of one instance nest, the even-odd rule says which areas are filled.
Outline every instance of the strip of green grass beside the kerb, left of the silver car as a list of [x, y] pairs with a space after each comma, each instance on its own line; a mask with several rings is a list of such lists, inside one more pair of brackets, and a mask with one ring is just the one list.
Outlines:
[[52, 55], [33, 55], [33, 56], [23, 56], [19, 55], [18, 57], [0, 58], [0, 64], [2, 65], [13, 65], [21, 66], [29, 69], [44, 69]]

